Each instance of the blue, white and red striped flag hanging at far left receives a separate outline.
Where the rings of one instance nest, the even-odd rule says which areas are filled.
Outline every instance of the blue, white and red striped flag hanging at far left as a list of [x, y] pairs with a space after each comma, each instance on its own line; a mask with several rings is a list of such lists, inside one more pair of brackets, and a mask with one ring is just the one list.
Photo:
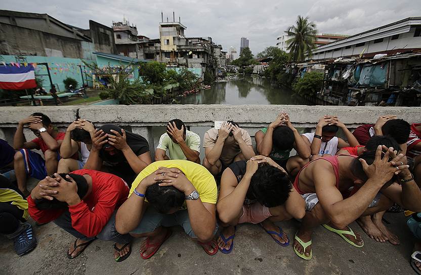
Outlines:
[[35, 87], [35, 71], [32, 64], [20, 67], [0, 66], [0, 89], [23, 90]]

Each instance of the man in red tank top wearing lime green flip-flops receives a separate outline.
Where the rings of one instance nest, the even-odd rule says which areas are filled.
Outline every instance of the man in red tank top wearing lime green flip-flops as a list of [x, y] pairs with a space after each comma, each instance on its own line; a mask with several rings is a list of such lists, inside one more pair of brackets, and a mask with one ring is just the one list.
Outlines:
[[[323, 157], [300, 170], [294, 188], [306, 201], [307, 212], [294, 241], [298, 256], [311, 259], [311, 235], [320, 224], [347, 243], [362, 247], [361, 237], [348, 226], [360, 216], [384, 211], [391, 201], [406, 209], [421, 210], [421, 191], [403, 162], [404, 155], [393, 150], [378, 146], [376, 151], [365, 152], [358, 158]], [[393, 183], [394, 180], [399, 180], [402, 186]], [[357, 191], [350, 195], [351, 187]], [[376, 198], [379, 191], [380, 197]]]

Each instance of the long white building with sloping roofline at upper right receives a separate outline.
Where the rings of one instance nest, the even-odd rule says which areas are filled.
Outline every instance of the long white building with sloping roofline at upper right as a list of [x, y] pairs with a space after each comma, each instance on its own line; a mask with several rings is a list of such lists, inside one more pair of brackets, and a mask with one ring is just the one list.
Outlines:
[[310, 59], [336, 57], [372, 57], [421, 48], [421, 17], [409, 17], [385, 26], [364, 31], [345, 39], [321, 45]]

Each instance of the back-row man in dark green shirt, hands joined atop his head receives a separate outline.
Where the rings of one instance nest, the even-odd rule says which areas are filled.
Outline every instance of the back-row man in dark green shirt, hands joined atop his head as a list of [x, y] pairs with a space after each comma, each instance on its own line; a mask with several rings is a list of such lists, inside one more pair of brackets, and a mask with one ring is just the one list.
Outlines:
[[[258, 153], [270, 157], [288, 172], [297, 170], [297, 174], [311, 157], [310, 146], [292, 126], [289, 115], [285, 112], [280, 113], [268, 127], [260, 129], [255, 134], [255, 139]], [[297, 151], [297, 156], [290, 158], [292, 149]]]

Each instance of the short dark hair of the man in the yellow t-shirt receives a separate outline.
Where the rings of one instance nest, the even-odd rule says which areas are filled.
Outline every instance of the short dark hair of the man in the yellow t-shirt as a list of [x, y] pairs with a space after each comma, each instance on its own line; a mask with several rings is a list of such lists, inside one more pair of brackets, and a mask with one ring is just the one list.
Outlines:
[[159, 186], [159, 182], [146, 189], [145, 197], [156, 211], [167, 214], [174, 208], [180, 208], [186, 196], [174, 186]]

